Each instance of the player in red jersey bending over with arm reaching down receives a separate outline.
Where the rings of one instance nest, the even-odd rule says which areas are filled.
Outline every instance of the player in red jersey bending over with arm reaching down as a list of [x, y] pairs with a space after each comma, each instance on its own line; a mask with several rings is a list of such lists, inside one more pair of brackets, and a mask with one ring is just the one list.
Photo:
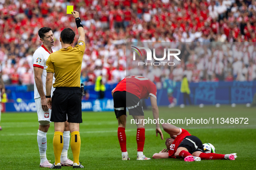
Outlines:
[[[127, 88], [126, 88], [127, 87]], [[126, 150], [126, 107], [134, 120], [144, 119], [143, 107], [140, 99], [150, 98], [154, 119], [159, 118], [156, 103], [156, 85], [143, 76], [128, 76], [117, 84], [112, 90], [114, 110], [118, 120], [118, 140], [122, 151], [122, 160], [130, 160]], [[139, 122], [139, 121], [138, 121]], [[145, 143], [145, 128], [143, 124], [137, 125], [137, 160], [150, 160], [143, 154]], [[158, 123], [156, 123], [156, 136], [158, 133], [163, 140], [163, 134]]]

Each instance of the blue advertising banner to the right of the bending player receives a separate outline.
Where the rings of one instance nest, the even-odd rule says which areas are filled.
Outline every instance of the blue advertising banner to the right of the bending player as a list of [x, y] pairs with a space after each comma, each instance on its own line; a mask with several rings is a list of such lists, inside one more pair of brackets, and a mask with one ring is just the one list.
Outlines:
[[[172, 87], [172, 96], [177, 101], [176, 105], [184, 104], [183, 94], [180, 91], [181, 82], [176, 82]], [[256, 94], [256, 81], [252, 82], [199, 82], [190, 83], [191, 93], [189, 94], [191, 103], [197, 104], [246, 104], [253, 101]], [[167, 106], [169, 102], [169, 88], [164, 87], [157, 90], [157, 104]], [[188, 101], [187, 101], [188, 103]], [[146, 100], [150, 105], [150, 100]]]

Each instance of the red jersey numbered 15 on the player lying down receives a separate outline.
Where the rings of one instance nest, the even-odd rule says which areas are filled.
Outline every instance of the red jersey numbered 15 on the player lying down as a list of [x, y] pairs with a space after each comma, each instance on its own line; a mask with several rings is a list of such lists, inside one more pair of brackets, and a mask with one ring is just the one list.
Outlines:
[[174, 154], [175, 154], [175, 152], [178, 149], [178, 145], [180, 145], [180, 143], [183, 141], [183, 139], [186, 136], [191, 136], [191, 135], [190, 135], [190, 133], [187, 130], [181, 129], [181, 134], [177, 135], [177, 137], [172, 142], [172, 145], [170, 146], [170, 150], [168, 152], [169, 153], [169, 157], [176, 158], [174, 156]]

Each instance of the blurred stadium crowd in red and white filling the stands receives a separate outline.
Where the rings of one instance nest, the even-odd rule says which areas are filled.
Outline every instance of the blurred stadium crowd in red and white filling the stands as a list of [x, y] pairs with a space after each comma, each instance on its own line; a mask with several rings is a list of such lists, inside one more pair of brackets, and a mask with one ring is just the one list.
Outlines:
[[55, 50], [61, 48], [64, 28], [77, 30], [67, 5], [79, 11], [84, 25], [85, 85], [100, 75], [107, 83], [119, 82], [126, 69], [136, 71], [126, 68], [126, 41], [197, 42], [181, 45], [184, 55], [175, 66], [146, 68], [143, 76], [155, 82], [163, 77], [180, 81], [184, 73], [191, 82], [256, 79], [256, 48], [249, 43], [256, 42], [256, 0], [0, 0], [0, 63], [6, 84], [33, 83], [32, 54], [42, 44], [39, 28], [52, 28]]

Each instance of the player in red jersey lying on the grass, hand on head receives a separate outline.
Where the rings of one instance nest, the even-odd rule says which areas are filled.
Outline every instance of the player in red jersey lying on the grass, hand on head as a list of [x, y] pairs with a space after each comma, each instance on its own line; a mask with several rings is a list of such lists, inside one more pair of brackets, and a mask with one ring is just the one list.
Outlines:
[[204, 147], [201, 140], [191, 135], [187, 130], [178, 128], [172, 124], [164, 123], [162, 127], [171, 138], [166, 139], [165, 145], [167, 149], [163, 149], [159, 153], [153, 154], [154, 159], [162, 158], [182, 158], [186, 162], [227, 159], [235, 160], [237, 154], [215, 154], [204, 153]]

